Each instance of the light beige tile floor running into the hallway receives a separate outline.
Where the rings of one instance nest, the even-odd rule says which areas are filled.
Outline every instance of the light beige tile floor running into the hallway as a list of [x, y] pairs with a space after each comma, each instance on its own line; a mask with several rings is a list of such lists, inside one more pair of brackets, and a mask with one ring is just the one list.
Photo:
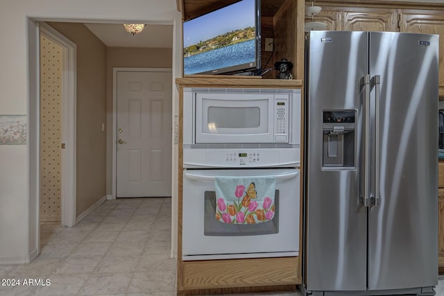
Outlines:
[[[107, 200], [76, 227], [43, 223], [42, 252], [28, 265], [0, 265], [0, 295], [176, 295], [171, 252], [171, 199]], [[41, 279], [24, 286], [24, 279]], [[46, 279], [50, 286], [44, 286]], [[444, 296], [444, 277], [436, 295]], [[293, 293], [244, 294], [300, 296]]]

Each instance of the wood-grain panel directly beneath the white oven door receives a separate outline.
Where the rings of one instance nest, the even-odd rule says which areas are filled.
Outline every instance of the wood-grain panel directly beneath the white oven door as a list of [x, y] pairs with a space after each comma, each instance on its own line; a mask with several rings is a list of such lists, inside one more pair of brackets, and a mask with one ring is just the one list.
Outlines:
[[183, 290], [298, 284], [298, 257], [183, 261]]

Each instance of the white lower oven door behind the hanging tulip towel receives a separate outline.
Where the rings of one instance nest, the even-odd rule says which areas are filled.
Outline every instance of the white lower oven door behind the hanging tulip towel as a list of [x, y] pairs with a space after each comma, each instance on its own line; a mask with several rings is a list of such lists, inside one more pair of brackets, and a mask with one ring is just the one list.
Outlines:
[[[215, 218], [214, 177], [273, 175], [275, 216], [265, 223], [234, 225]], [[183, 173], [182, 260], [297, 256], [299, 170], [187, 170]]]

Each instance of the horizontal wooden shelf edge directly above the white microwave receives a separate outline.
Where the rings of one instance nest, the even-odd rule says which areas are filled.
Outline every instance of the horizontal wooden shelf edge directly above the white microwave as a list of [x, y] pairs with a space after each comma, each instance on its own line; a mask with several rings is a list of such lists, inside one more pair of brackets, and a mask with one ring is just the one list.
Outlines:
[[302, 80], [248, 79], [248, 78], [176, 78], [178, 85], [189, 87], [302, 87]]

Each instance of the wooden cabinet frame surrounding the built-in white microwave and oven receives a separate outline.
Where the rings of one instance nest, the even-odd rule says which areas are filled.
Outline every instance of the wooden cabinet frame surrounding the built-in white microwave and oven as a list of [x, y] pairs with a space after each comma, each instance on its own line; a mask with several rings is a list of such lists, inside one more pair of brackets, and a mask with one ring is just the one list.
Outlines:
[[[300, 256], [182, 261], [182, 129], [184, 87], [302, 88], [302, 80], [232, 78], [232, 76], [193, 76], [178, 78], [179, 92], [179, 168], [178, 168], [178, 295], [266, 292], [295, 290], [302, 284]], [[303, 108], [303, 106], [301, 106]], [[301, 123], [303, 123], [303, 120]], [[303, 153], [303, 152], [302, 152]], [[301, 168], [301, 174], [303, 172]], [[301, 176], [302, 180], [302, 176]], [[301, 195], [302, 196], [302, 186]], [[300, 200], [302, 204], [302, 199]], [[302, 225], [302, 211], [300, 212]], [[302, 234], [302, 228], [300, 228]], [[302, 237], [299, 238], [302, 250]]]

